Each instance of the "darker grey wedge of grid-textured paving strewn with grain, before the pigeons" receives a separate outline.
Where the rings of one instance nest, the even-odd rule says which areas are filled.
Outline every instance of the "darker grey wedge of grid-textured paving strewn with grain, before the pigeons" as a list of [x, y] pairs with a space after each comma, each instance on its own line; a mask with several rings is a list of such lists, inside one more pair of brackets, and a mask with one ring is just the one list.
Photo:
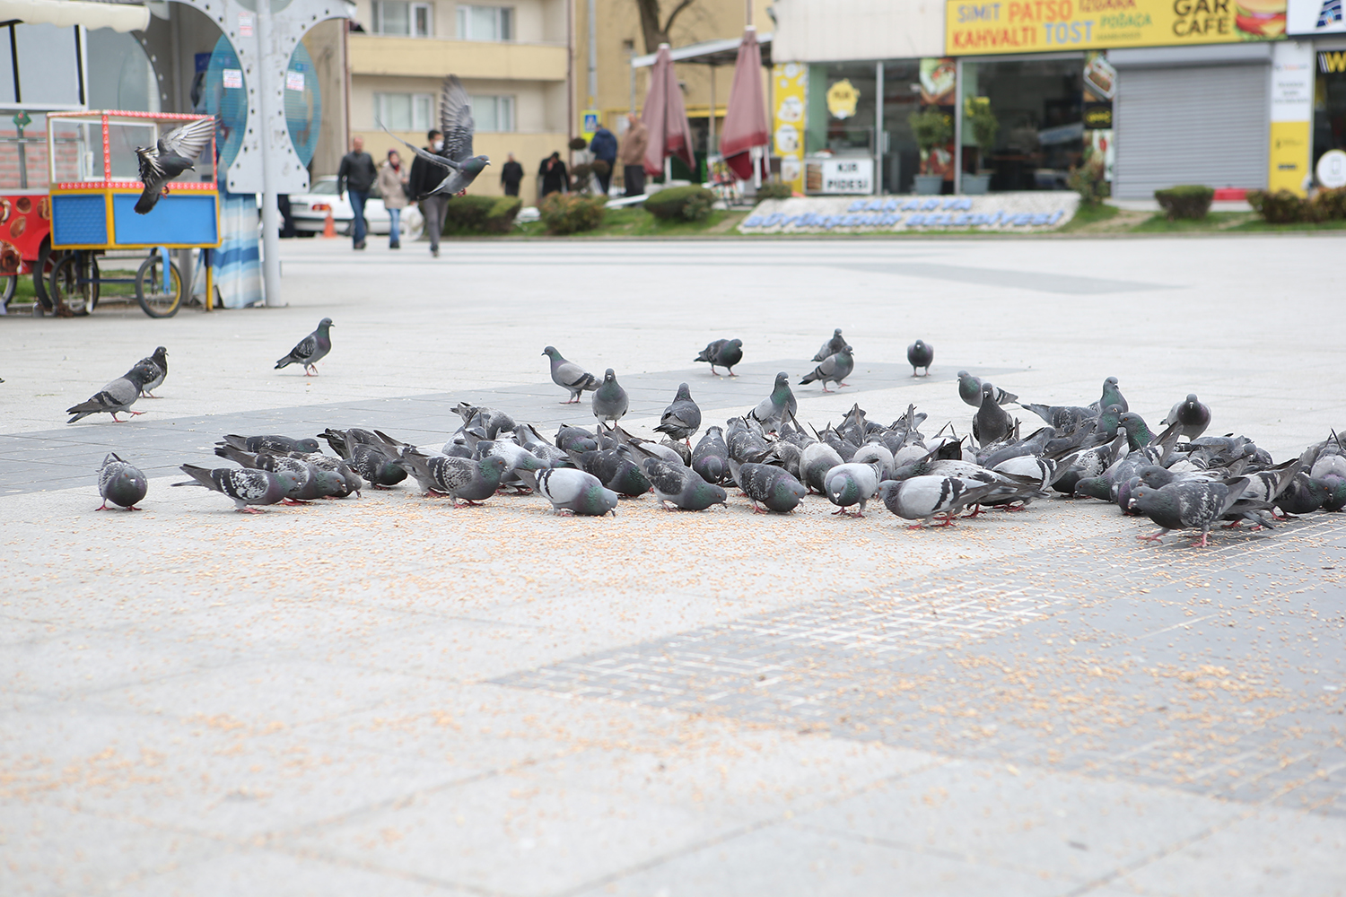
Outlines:
[[1128, 529], [494, 682], [1346, 816], [1346, 519], [1218, 538]]

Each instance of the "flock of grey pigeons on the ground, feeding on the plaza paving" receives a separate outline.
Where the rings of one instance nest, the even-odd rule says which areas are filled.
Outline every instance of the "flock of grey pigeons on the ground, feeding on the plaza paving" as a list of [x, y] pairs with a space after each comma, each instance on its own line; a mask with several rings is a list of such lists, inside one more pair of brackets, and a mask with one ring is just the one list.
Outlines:
[[[327, 354], [330, 319], [302, 340], [276, 367], [312, 362]], [[835, 382], [855, 366], [852, 347], [837, 329], [822, 344], [817, 367], [801, 383]], [[238, 467], [207, 469], [190, 464], [191, 476], [174, 485], [203, 485], [234, 500], [237, 510], [306, 503], [358, 495], [362, 488], [392, 488], [412, 477], [425, 495], [475, 504], [497, 492], [536, 492], [557, 512], [614, 514], [621, 499], [654, 492], [669, 510], [704, 511], [727, 503], [727, 487], [747, 496], [755, 512], [793, 511], [809, 492], [836, 506], [835, 514], [863, 516], [878, 498], [911, 529], [937, 522], [952, 526], [960, 515], [987, 508], [1023, 510], [1051, 495], [1114, 502], [1124, 514], [1148, 516], [1160, 529], [1140, 537], [1154, 541], [1171, 530], [1201, 530], [1207, 545], [1213, 526], [1273, 527], [1277, 518], [1346, 507], [1346, 441], [1337, 433], [1283, 463], [1242, 436], [1205, 436], [1210, 409], [1197, 395], [1175, 403], [1155, 433], [1132, 412], [1117, 378], [1102, 383], [1086, 406], [1047, 406], [958, 371], [958, 395], [976, 412], [970, 434], [958, 437], [950, 424], [933, 436], [921, 432], [926, 414], [909, 406], [891, 424], [868, 418], [855, 405], [839, 424], [818, 432], [795, 418], [798, 402], [790, 377], [781, 371], [771, 393], [752, 409], [720, 426], [701, 426], [701, 410], [681, 383], [656, 433], [641, 438], [622, 429], [629, 409], [626, 390], [612, 368], [599, 379], [567, 360], [552, 346], [544, 352], [552, 381], [579, 402], [592, 393], [594, 429], [563, 425], [546, 438], [509, 413], [460, 402], [462, 426], [443, 445], [412, 445], [380, 430], [327, 429], [318, 438], [225, 436], [215, 453]], [[738, 339], [715, 340], [696, 360], [732, 367], [743, 358]], [[934, 360], [934, 350], [917, 340], [909, 347], [913, 377]], [[129, 412], [141, 393], [163, 383], [167, 352], [137, 362], [89, 402], [70, 409], [71, 422], [97, 412]], [[717, 374], [717, 373], [716, 373]], [[112, 403], [117, 407], [113, 409]], [[1019, 405], [1043, 426], [1020, 434], [1020, 421], [1005, 406]], [[114, 414], [116, 420], [116, 414]], [[692, 437], [703, 433], [692, 445]], [[144, 473], [108, 455], [98, 479], [104, 506], [133, 510], [147, 494]], [[852, 508], [855, 508], [852, 511]]]

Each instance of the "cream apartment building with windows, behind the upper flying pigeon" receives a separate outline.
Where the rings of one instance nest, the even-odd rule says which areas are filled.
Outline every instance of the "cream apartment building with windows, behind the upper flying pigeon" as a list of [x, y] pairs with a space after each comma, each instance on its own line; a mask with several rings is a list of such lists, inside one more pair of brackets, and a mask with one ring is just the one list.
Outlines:
[[[357, 0], [349, 35], [350, 133], [382, 159], [402, 149], [377, 122], [416, 145], [439, 124], [439, 89], [456, 74], [472, 98], [475, 152], [493, 167], [474, 194], [501, 195], [499, 169], [514, 156], [532, 175], [553, 151], [565, 155], [568, 0]], [[357, 30], [357, 27], [359, 30]], [[537, 200], [524, 179], [525, 203]]]

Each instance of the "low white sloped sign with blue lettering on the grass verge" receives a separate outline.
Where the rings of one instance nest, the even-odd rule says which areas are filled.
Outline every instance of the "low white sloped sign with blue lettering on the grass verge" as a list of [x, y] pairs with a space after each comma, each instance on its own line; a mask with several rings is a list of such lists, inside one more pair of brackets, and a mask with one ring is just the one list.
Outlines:
[[864, 234], [942, 230], [1044, 231], [1074, 218], [1079, 195], [1070, 191], [985, 196], [876, 196], [769, 199], [743, 222], [742, 234]]

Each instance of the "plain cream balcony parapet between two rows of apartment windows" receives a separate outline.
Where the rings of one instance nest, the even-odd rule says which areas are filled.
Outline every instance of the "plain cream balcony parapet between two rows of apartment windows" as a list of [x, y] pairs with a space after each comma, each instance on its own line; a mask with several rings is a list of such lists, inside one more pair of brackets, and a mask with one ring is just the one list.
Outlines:
[[565, 81], [565, 46], [350, 35], [354, 75]]

